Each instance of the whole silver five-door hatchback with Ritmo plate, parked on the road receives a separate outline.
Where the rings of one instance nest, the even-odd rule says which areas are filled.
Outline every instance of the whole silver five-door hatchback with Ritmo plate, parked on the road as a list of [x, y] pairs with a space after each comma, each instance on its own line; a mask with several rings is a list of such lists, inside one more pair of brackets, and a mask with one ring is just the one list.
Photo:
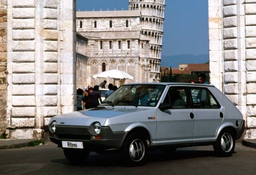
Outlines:
[[90, 151], [119, 151], [125, 165], [143, 165], [149, 149], [213, 145], [229, 156], [244, 131], [239, 110], [213, 85], [134, 83], [120, 86], [98, 107], [52, 117], [50, 139], [72, 163]]

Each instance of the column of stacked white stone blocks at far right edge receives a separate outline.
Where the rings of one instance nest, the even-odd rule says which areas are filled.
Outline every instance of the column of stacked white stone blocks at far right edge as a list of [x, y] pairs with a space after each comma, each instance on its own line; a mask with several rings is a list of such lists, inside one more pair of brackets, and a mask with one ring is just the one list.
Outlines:
[[[244, 1], [246, 77], [246, 124], [245, 138], [256, 139], [256, 0]], [[244, 94], [242, 94], [244, 95]]]

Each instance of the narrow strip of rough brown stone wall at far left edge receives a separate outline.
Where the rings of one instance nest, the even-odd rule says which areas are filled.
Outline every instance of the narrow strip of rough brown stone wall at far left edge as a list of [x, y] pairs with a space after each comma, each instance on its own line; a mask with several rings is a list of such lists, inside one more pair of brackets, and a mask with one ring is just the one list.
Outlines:
[[[7, 109], [7, 0], [0, 0], [0, 135], [5, 133]], [[3, 135], [5, 136], [5, 135]]]

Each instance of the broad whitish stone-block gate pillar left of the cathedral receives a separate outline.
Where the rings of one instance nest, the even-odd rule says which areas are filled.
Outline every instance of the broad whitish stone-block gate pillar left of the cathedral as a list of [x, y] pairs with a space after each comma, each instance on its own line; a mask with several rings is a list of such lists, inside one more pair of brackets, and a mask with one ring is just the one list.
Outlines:
[[41, 138], [52, 116], [76, 109], [75, 4], [9, 0], [7, 17], [6, 134]]

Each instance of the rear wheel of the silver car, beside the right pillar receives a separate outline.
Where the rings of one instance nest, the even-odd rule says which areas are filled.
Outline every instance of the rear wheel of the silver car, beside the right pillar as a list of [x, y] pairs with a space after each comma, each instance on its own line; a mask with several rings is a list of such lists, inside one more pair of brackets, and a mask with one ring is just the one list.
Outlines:
[[230, 129], [223, 129], [216, 143], [213, 145], [214, 151], [219, 156], [230, 156], [234, 152], [235, 139]]

